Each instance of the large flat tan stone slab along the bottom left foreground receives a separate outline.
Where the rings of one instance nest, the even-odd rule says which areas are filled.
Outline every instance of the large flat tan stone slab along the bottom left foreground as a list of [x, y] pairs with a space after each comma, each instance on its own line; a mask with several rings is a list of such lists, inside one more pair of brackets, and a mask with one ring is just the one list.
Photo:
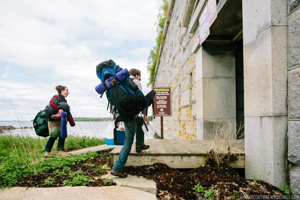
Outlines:
[[0, 191], [0, 200], [156, 200], [156, 195], [130, 187], [12, 187]]

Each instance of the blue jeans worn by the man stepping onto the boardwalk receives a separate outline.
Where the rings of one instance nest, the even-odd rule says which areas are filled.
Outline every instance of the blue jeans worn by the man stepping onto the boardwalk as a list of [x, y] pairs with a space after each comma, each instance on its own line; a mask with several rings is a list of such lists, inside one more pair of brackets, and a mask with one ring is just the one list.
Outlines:
[[120, 151], [119, 157], [117, 158], [113, 169], [118, 171], [123, 171], [124, 165], [127, 162], [128, 155], [131, 151], [131, 146], [133, 144], [134, 134], [136, 133], [136, 147], [144, 146], [144, 132], [142, 130], [143, 119], [138, 116], [129, 122], [124, 122], [125, 125], [125, 142]]

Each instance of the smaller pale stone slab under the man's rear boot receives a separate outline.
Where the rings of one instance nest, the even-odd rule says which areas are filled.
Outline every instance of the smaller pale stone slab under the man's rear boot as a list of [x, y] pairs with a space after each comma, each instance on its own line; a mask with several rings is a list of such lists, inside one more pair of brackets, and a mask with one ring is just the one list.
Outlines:
[[147, 180], [143, 177], [136, 177], [131, 175], [128, 175], [128, 177], [126, 178], [120, 178], [111, 175], [110, 172], [111, 170], [108, 171], [107, 175], [104, 175], [101, 178], [112, 178], [117, 183], [117, 186], [131, 187], [133, 189], [149, 192], [154, 195], [157, 194], [156, 183], [152, 180]]

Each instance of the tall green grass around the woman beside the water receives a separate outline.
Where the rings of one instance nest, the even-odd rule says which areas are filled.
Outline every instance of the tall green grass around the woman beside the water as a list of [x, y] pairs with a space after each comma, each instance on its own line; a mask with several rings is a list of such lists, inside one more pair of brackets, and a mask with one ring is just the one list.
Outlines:
[[[11, 102], [12, 104], [12, 102]], [[22, 117], [13, 106], [17, 121], [22, 127], [24, 125]], [[24, 127], [24, 126], [23, 126]], [[44, 148], [48, 138], [31, 137], [26, 129], [21, 129], [20, 135], [10, 131], [0, 134], [0, 188], [13, 185], [17, 179], [37, 175], [45, 171], [45, 166], [41, 163], [44, 156]], [[52, 154], [58, 154], [56, 150], [58, 140], [53, 145]], [[68, 135], [65, 140], [65, 149], [80, 149], [105, 144], [104, 138], [86, 137], [78, 135]], [[72, 156], [76, 158], [78, 156]], [[80, 157], [80, 155], [79, 155]], [[81, 155], [85, 159], [84, 155]], [[70, 158], [72, 160], [72, 158]], [[82, 158], [76, 158], [80, 160]], [[57, 163], [58, 161], [56, 161]], [[74, 161], [72, 161], [74, 162]], [[49, 166], [48, 166], [49, 167]]]

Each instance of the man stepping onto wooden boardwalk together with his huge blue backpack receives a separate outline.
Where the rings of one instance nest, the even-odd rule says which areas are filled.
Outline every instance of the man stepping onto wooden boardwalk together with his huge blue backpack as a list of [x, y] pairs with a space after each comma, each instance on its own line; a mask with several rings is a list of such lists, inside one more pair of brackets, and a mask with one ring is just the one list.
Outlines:
[[[141, 152], [149, 148], [144, 144], [144, 132], [142, 126], [149, 124], [147, 118], [148, 107], [153, 104], [155, 91], [149, 92], [144, 96], [141, 80], [141, 72], [137, 69], [122, 69], [112, 60], [103, 61], [96, 66], [96, 73], [102, 83], [96, 86], [97, 93], [101, 94], [106, 91], [111, 112], [113, 112], [115, 126], [123, 122], [125, 126], [125, 141], [123, 148], [113, 165], [111, 174], [121, 178], [127, 177], [123, 172], [124, 165], [127, 162], [128, 155], [136, 135], [136, 152]], [[143, 118], [138, 116], [142, 112]], [[115, 129], [116, 129], [115, 128]], [[115, 135], [115, 134], [114, 134]], [[115, 137], [114, 137], [115, 139]]]

